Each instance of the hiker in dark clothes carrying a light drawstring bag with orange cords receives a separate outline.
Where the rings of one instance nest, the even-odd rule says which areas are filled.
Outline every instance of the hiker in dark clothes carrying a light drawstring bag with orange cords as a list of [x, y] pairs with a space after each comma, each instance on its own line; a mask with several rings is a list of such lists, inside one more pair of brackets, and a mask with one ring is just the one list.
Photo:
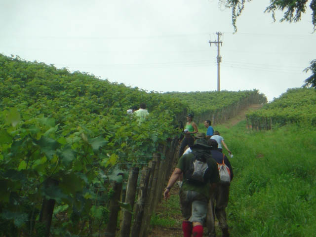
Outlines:
[[233, 168], [228, 158], [218, 150], [218, 143], [214, 139], [209, 139], [207, 144], [211, 146], [212, 158], [217, 162], [220, 175], [220, 183], [210, 192], [208, 204], [208, 213], [206, 218], [206, 227], [209, 231], [209, 237], [216, 237], [215, 233], [215, 215], [218, 219], [219, 227], [222, 230], [223, 237], [229, 237], [227, 217], [225, 208], [229, 200], [229, 188], [233, 180]]

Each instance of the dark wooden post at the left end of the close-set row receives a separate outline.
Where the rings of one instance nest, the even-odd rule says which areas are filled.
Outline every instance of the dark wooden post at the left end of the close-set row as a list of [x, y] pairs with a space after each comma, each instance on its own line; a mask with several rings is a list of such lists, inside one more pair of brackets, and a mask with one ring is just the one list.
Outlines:
[[114, 194], [110, 200], [110, 216], [109, 216], [109, 223], [107, 225], [106, 237], [114, 237], [117, 229], [118, 224], [118, 211], [119, 205], [118, 200], [120, 197], [120, 193], [122, 191], [122, 183], [114, 182], [113, 185]]

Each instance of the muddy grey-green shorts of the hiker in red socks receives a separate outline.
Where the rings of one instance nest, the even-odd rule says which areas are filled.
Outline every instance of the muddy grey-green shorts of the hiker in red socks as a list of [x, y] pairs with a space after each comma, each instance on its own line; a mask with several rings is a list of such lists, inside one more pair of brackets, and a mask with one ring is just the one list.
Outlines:
[[180, 190], [179, 195], [181, 212], [184, 219], [203, 224], [207, 214], [208, 198], [195, 191]]

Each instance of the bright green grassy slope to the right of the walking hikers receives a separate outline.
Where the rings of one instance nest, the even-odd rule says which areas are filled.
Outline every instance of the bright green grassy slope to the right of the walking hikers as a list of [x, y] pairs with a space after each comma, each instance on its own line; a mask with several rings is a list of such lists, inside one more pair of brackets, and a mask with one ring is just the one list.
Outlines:
[[291, 125], [249, 132], [245, 121], [215, 129], [234, 154], [227, 207], [232, 236], [314, 236], [316, 129]]

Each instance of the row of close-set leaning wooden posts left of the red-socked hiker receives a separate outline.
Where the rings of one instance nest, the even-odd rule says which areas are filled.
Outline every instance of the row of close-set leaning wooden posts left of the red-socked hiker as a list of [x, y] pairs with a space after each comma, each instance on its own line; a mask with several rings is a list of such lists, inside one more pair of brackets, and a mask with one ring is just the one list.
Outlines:
[[[153, 159], [147, 166], [144, 166], [140, 182], [137, 186], [139, 167], [131, 168], [129, 172], [126, 195], [121, 195], [122, 185], [115, 183], [115, 194], [110, 203], [110, 220], [107, 224], [106, 237], [116, 236], [118, 220], [120, 221], [119, 236], [147, 237], [150, 226], [150, 219], [162, 197], [162, 189], [170, 175], [173, 162], [177, 160], [178, 138], [168, 141], [160, 154], [153, 154]], [[138, 191], [138, 192], [137, 192]], [[138, 193], [135, 202], [136, 193]], [[120, 197], [120, 198], [118, 198]], [[123, 199], [125, 197], [125, 199]], [[132, 207], [133, 215], [129, 210], [123, 210], [119, 215], [118, 201], [125, 202]], [[132, 216], [134, 217], [132, 220]]]

